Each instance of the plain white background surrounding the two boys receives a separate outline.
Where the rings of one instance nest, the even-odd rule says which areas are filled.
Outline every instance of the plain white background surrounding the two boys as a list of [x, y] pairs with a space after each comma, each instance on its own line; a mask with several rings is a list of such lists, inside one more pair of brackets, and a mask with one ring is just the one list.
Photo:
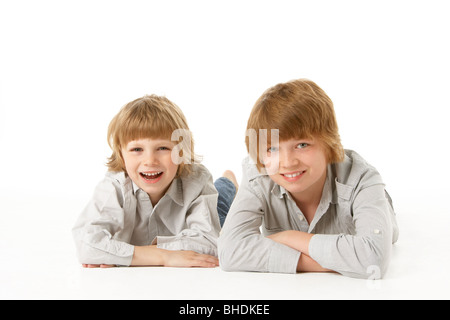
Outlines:
[[[334, 101], [344, 147], [378, 168], [394, 198], [401, 238], [381, 283], [403, 290], [387, 297], [450, 298], [449, 11], [438, 0], [0, 0], [0, 297], [92, 298], [82, 288], [100, 281], [93, 274], [197, 274], [79, 268], [70, 228], [106, 171], [109, 121], [135, 98], [166, 95], [214, 177], [240, 179], [254, 102], [308, 78]], [[236, 277], [213, 272], [224, 285]], [[361, 286], [293, 277], [338, 281], [350, 295]]]

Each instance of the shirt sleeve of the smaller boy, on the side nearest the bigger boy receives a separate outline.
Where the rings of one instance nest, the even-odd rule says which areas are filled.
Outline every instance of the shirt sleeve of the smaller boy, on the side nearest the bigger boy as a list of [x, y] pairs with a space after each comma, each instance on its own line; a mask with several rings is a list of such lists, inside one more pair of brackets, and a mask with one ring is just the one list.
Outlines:
[[189, 250], [217, 257], [220, 232], [217, 191], [208, 182], [191, 202], [185, 216], [185, 229], [174, 236], [158, 236], [157, 246], [166, 250]]

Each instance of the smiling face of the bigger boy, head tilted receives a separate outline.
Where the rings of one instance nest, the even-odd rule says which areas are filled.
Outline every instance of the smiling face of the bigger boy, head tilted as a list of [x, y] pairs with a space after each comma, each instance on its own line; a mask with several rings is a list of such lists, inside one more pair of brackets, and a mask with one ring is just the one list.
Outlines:
[[308, 201], [318, 197], [320, 200], [328, 163], [318, 141], [280, 141], [279, 145], [271, 146], [267, 150], [263, 160], [270, 178], [289, 191], [296, 201]]

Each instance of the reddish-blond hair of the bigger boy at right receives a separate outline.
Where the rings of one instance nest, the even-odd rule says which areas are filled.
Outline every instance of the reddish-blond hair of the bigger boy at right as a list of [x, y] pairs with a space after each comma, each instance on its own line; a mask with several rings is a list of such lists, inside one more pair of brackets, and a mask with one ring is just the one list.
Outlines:
[[[266, 90], [256, 101], [247, 123], [248, 130], [279, 130], [279, 139], [318, 139], [322, 143], [328, 163], [344, 160], [333, 102], [314, 82], [306, 79], [278, 84]], [[270, 137], [257, 135], [270, 144]], [[251, 153], [249, 137], [246, 137], [247, 151]], [[257, 154], [258, 169], [264, 167], [260, 152]]]

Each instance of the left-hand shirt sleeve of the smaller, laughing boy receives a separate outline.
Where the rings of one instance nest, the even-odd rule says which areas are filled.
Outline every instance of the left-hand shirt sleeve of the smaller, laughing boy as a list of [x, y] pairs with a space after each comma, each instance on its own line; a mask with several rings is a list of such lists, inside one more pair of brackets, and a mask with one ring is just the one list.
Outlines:
[[125, 219], [120, 184], [105, 178], [72, 229], [80, 263], [129, 266], [134, 246]]

